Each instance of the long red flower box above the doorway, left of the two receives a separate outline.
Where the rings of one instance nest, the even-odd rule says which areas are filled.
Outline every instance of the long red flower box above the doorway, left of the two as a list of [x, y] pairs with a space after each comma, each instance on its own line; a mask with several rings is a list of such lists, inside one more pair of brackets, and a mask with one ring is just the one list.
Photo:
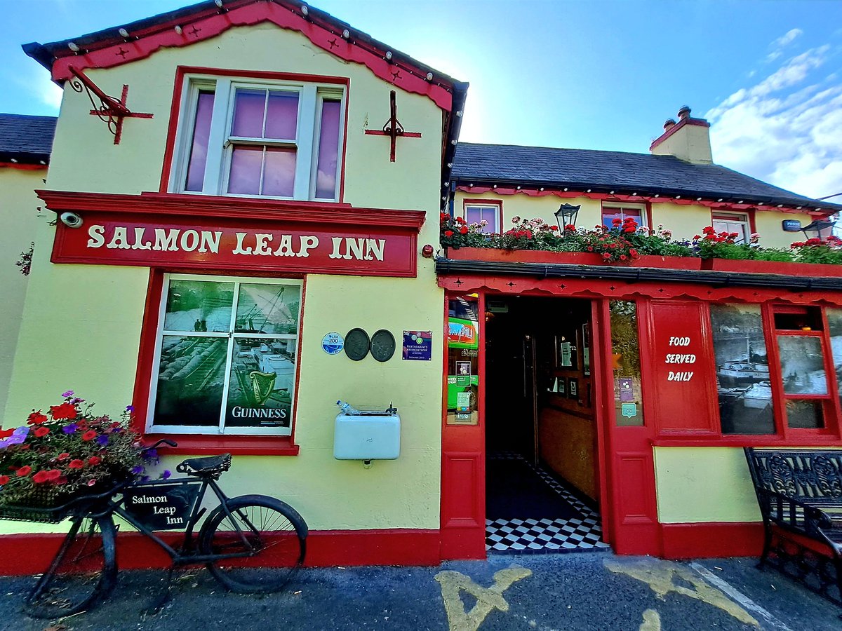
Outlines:
[[448, 256], [461, 261], [514, 263], [558, 263], [562, 265], [594, 265], [599, 267], [628, 266], [633, 268], [699, 269], [701, 259], [695, 257], [642, 256], [630, 262], [605, 263], [592, 252], [547, 252], [544, 250], [499, 250], [485, 247], [450, 248]]

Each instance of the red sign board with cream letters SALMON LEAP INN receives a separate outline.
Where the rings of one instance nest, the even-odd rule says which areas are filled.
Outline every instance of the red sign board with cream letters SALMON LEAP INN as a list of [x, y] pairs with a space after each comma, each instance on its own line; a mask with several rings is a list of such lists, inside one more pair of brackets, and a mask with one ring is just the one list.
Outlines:
[[57, 224], [52, 262], [414, 277], [418, 260], [417, 234], [387, 225], [92, 211], [83, 218], [79, 228]]

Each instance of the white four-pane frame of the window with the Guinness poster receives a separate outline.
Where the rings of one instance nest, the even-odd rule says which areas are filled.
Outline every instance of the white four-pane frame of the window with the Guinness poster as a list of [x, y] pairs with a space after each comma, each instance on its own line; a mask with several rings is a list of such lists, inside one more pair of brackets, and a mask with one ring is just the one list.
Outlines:
[[[199, 282], [221, 282], [231, 283], [234, 285], [234, 299], [232, 300], [231, 321], [227, 332], [216, 331], [168, 331], [164, 329], [164, 318], [167, 311], [167, 296], [169, 295], [169, 285], [172, 280], [192, 280]], [[296, 326], [296, 334], [289, 333], [238, 333], [235, 329], [237, 321], [237, 301], [239, 300], [239, 286], [240, 284], [271, 284], [271, 285], [295, 285], [299, 287], [299, 308], [298, 308], [298, 324]], [[160, 305], [158, 306], [158, 326], [155, 331], [155, 353], [152, 357], [152, 377], [149, 385], [149, 401], [147, 406], [147, 432], [165, 433], [165, 434], [200, 434], [205, 436], [291, 436], [293, 426], [296, 422], [296, 386], [298, 378], [298, 359], [301, 352], [301, 321], [303, 319], [304, 283], [301, 279], [296, 278], [252, 278], [252, 277], [237, 277], [237, 276], [204, 276], [199, 274], [164, 274], [163, 284], [160, 295]], [[219, 425], [214, 432], [213, 426], [186, 426], [186, 425], [156, 425], [155, 424], [155, 403], [157, 400], [157, 384], [158, 372], [161, 367], [161, 351], [163, 347], [163, 338], [170, 336], [182, 337], [215, 337], [227, 338], [226, 349], [226, 368], [225, 381], [222, 387], [222, 398], [220, 406]], [[225, 427], [226, 406], [228, 400], [228, 390], [231, 381], [231, 363], [232, 353], [234, 350], [234, 340], [236, 339], [272, 339], [272, 340], [296, 340], [296, 361], [294, 362], [295, 375], [292, 380], [292, 391], [290, 391], [290, 427]]]

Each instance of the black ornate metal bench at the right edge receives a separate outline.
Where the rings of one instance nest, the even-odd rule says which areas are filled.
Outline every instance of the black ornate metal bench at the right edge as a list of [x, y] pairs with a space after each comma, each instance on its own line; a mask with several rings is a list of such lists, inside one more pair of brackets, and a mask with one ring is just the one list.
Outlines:
[[745, 455], [765, 533], [758, 567], [770, 563], [842, 605], [842, 450], [747, 447]]

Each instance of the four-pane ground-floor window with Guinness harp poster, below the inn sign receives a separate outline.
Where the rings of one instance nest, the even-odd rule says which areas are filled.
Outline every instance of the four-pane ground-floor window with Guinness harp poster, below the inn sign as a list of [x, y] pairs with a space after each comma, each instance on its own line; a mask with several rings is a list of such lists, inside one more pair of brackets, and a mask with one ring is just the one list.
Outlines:
[[149, 430], [290, 436], [301, 281], [164, 278]]

